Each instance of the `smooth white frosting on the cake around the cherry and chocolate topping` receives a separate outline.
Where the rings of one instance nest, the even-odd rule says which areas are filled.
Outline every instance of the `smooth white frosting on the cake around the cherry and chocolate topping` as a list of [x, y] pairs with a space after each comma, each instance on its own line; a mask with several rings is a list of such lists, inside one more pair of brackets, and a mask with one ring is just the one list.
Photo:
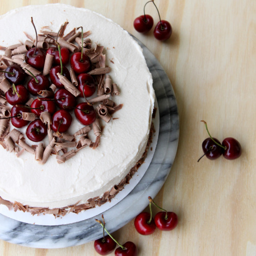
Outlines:
[[[54, 4], [13, 10], [0, 17], [0, 45], [24, 42], [24, 31], [34, 37], [32, 16], [37, 30], [50, 26], [57, 32], [65, 21], [69, 22], [66, 33], [80, 26], [83, 31], [91, 30], [92, 42], [104, 46], [107, 65], [112, 69], [110, 76], [121, 91], [113, 100], [123, 103], [123, 108], [114, 114], [118, 119], [101, 122], [104, 130], [96, 150], [86, 147], [63, 164], [52, 155], [40, 165], [30, 153], [17, 158], [1, 147], [0, 196], [32, 207], [64, 207], [79, 200], [84, 203], [118, 184], [141, 158], [154, 106], [152, 76], [142, 49], [126, 31], [110, 19], [82, 8]], [[73, 118], [68, 133], [81, 127]], [[93, 131], [89, 137], [95, 141]], [[28, 139], [26, 142], [36, 144]], [[46, 146], [48, 140], [44, 143]]]

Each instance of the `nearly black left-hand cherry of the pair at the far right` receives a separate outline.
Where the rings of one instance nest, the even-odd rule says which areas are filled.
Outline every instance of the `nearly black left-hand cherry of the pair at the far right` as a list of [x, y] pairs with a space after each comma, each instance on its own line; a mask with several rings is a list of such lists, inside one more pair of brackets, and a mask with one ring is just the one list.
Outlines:
[[[220, 141], [213, 138], [220, 144]], [[217, 145], [211, 138], [207, 138], [202, 143], [202, 148], [205, 156], [210, 160], [215, 160], [222, 155], [223, 149]]]

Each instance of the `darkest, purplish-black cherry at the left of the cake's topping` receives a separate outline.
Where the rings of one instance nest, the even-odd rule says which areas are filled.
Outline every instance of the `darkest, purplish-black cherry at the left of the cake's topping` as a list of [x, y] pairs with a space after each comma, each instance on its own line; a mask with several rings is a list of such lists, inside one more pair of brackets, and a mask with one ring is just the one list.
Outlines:
[[10, 65], [5, 72], [5, 77], [10, 83], [22, 84], [25, 81], [26, 74], [24, 70], [17, 64]]

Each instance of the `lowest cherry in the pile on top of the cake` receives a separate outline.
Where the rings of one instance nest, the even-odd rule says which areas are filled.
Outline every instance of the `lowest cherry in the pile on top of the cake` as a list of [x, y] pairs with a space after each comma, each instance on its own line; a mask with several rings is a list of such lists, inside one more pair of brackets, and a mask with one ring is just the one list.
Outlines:
[[32, 141], [41, 141], [47, 135], [47, 126], [39, 118], [35, 119], [28, 125], [26, 135]]

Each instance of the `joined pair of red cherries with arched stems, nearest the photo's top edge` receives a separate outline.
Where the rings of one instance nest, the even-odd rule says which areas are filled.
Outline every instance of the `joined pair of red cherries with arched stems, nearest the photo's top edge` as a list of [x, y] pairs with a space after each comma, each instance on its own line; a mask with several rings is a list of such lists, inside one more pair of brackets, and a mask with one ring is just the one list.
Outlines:
[[172, 35], [173, 29], [169, 22], [166, 20], [161, 20], [158, 8], [154, 3], [154, 0], [146, 2], [144, 5], [144, 15], [137, 17], [134, 20], [133, 26], [140, 33], [147, 33], [152, 29], [154, 25], [154, 19], [151, 15], [145, 14], [145, 6], [150, 2], [155, 5], [159, 16], [159, 22], [154, 29], [154, 36], [160, 41], [167, 40]]

